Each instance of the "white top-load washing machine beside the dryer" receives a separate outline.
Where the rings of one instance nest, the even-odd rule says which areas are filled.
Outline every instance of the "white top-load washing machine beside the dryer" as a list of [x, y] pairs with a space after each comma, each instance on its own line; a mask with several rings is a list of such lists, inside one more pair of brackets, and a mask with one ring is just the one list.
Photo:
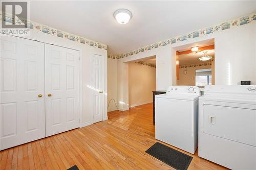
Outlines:
[[196, 86], [170, 86], [155, 96], [156, 139], [191, 154], [198, 146], [198, 98]]

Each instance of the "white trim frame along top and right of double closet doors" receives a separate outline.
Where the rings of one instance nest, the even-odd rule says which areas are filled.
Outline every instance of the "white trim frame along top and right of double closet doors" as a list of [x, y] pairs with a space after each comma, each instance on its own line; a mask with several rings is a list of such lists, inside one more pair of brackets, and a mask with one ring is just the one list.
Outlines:
[[[0, 34], [0, 37], [2, 35]], [[13, 35], [5, 35], [5, 36], [13, 36]], [[60, 46], [60, 47], [64, 47], [64, 48], [69, 48], [71, 50], [76, 50], [79, 52], [79, 128], [83, 127], [82, 126], [82, 48], [79, 48], [71, 43], [65, 43], [66, 41], [61, 41], [61, 43], [59, 42], [56, 42], [58, 44], [61, 44], [61, 45], [56, 45], [56, 44], [53, 44], [53, 43], [49, 43], [49, 42], [45, 42], [45, 41], [39, 41], [39, 40], [35, 40], [35, 39], [32, 39], [32, 38], [25, 38], [25, 37], [22, 37], [22, 36], [13, 36], [13, 37], [18, 37], [18, 38], [24, 38], [24, 39], [27, 39], [27, 40], [31, 40], [31, 41], [37, 41], [37, 42], [42, 42], [42, 43], [45, 43], [45, 44], [50, 44], [50, 45], [55, 45], [55, 46]], [[64, 42], [64, 43], [62, 43]], [[67, 47], [69, 46], [69, 47]], [[1, 100], [1, 99], [0, 99]], [[1, 102], [1, 101], [0, 101]], [[1, 140], [0, 140], [1, 142]]]

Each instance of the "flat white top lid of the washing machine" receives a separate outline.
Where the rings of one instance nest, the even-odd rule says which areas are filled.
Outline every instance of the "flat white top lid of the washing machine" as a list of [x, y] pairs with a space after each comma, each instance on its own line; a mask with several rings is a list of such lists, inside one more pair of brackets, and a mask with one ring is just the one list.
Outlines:
[[199, 94], [159, 94], [155, 98], [166, 98], [166, 99], [177, 99], [177, 100], [187, 100], [194, 101], [199, 98]]

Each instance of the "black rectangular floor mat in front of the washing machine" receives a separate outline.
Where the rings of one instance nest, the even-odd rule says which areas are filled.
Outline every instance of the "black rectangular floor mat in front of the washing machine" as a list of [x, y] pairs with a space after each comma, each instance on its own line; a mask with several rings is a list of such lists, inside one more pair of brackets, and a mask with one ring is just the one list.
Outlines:
[[156, 142], [146, 153], [154, 156], [175, 169], [186, 170], [193, 157]]

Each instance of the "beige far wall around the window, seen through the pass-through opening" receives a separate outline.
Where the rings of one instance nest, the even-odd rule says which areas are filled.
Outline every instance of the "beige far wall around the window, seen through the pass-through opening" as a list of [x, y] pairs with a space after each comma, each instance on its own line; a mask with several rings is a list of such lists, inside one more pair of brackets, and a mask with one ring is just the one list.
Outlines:
[[[211, 65], [196, 66], [196, 67], [187, 67], [180, 68], [180, 79], [177, 80], [177, 85], [196, 85], [196, 69], [206, 69], [211, 68]], [[184, 74], [184, 70], [187, 70], [187, 74]]]

